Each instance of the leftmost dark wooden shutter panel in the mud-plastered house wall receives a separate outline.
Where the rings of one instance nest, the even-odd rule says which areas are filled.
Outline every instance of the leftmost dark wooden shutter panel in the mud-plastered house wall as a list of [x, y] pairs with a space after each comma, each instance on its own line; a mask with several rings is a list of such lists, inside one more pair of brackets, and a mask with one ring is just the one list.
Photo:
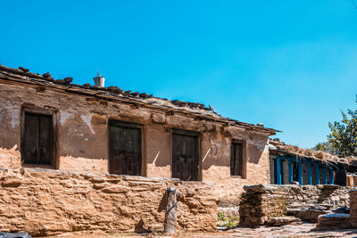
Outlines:
[[53, 161], [53, 118], [25, 112], [21, 156], [26, 164], [51, 165]]

